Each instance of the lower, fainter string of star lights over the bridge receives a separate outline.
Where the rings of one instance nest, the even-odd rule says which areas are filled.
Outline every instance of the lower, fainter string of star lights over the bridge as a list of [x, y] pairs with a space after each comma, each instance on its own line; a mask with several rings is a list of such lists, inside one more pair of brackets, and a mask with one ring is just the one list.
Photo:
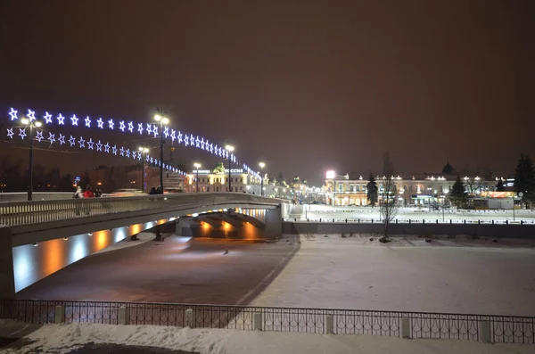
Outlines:
[[[180, 169], [177, 169], [169, 164], [166, 164], [156, 158], [153, 158], [149, 154], [144, 154], [142, 152], [138, 152], [134, 149], [130, 150], [129, 148], [126, 148], [123, 145], [117, 145], [113, 144], [111, 145], [109, 142], [106, 142], [103, 144], [101, 140], [93, 140], [92, 137], [89, 137], [89, 139], [84, 138], [84, 136], [72, 136], [72, 135], [62, 135], [61, 133], [53, 133], [48, 132], [48, 136], [45, 137], [45, 131], [34, 129], [35, 130], [35, 136], [28, 136], [26, 133], [26, 127], [25, 128], [18, 128], [19, 132], [15, 131], [16, 128], [7, 128], [7, 136], [10, 139], [13, 139], [13, 137], [21, 137], [21, 140], [24, 140], [24, 138], [28, 137], [34, 138], [37, 140], [37, 142], [48, 142], [49, 146], [52, 146], [54, 143], [59, 144], [60, 146], [64, 145], [67, 148], [79, 148], [79, 149], [86, 149], [86, 150], [92, 150], [94, 152], [103, 152], [103, 153], [111, 153], [115, 156], [124, 157], [127, 159], [132, 159], [135, 161], [141, 161], [142, 159], [146, 159], [147, 163], [150, 163], [153, 166], [161, 166], [163, 163], [163, 169], [167, 169], [170, 172], [177, 173], [180, 176], [186, 176], [186, 172], [182, 171]], [[57, 136], [57, 138], [56, 138]], [[67, 138], [69, 137], [69, 139]], [[145, 155], [145, 157], [144, 157]]]

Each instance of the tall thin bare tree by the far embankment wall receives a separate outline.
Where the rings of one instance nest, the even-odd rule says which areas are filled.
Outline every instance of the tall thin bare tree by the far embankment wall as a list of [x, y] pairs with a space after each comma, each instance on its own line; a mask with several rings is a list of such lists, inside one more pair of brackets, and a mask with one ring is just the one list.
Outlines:
[[379, 238], [382, 243], [389, 242], [388, 228], [391, 221], [398, 213], [398, 200], [396, 195], [396, 180], [394, 178], [394, 166], [390, 161], [389, 152], [383, 157], [383, 200], [381, 201], [381, 215], [383, 216], [384, 234]]

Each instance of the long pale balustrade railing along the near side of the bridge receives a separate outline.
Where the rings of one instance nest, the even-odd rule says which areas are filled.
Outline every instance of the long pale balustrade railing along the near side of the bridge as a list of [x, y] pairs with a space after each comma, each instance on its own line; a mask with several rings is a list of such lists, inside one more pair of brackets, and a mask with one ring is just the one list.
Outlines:
[[81, 198], [59, 201], [0, 203], [0, 226], [21, 226], [138, 210], [177, 210], [228, 203], [280, 201], [246, 193], [176, 193], [133, 197]]

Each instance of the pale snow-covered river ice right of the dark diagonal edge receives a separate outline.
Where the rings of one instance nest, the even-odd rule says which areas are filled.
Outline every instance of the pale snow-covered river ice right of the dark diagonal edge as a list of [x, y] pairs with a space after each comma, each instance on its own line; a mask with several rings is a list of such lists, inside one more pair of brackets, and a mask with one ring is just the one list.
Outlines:
[[535, 248], [511, 244], [301, 236], [251, 305], [535, 316]]

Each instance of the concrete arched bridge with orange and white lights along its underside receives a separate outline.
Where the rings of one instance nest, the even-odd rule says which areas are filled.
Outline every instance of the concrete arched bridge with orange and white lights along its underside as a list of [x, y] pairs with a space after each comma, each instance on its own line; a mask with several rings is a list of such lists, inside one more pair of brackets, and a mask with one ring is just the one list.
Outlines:
[[[104, 207], [106, 204], [107, 207]], [[73, 215], [73, 210], [77, 208], [86, 208], [89, 215]], [[229, 209], [251, 214], [262, 213], [264, 222], [254, 221], [254, 225], [262, 229], [255, 229], [254, 232], [250, 230], [249, 235], [275, 238], [281, 235], [281, 220], [287, 204], [243, 193], [179, 193], [3, 203], [0, 205], [0, 220], [3, 224], [0, 227], [0, 261], [3, 268], [0, 274], [0, 295], [11, 297], [14, 292], [94, 251], [153, 226], [175, 222], [179, 217], [191, 215], [193, 218], [193, 215], [200, 215], [201, 218], [208, 218], [210, 214], [203, 213], [210, 212], [219, 215], [213, 217], [215, 219], [226, 219], [220, 223], [226, 222], [232, 226], [237, 220], [243, 219], [249, 220], [249, 225], [253, 227], [250, 216], [239, 217], [235, 212], [233, 215], [221, 212]], [[225, 215], [224, 218], [221, 215]], [[229, 226], [226, 226], [229, 230], [234, 228]], [[37, 247], [33, 246], [35, 243]], [[43, 264], [45, 266], [39, 268]]]

